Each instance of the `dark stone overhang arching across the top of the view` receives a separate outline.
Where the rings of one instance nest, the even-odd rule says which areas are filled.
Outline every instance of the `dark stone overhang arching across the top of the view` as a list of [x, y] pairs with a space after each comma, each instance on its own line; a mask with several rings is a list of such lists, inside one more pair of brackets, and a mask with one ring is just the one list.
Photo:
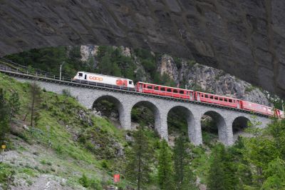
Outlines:
[[142, 47], [285, 96], [285, 1], [1, 1], [0, 55], [46, 46]]

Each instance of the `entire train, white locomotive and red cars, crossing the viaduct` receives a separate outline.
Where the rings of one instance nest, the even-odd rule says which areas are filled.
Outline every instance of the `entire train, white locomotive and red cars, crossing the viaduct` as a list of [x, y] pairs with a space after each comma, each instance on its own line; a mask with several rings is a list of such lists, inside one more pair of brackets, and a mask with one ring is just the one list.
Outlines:
[[275, 116], [284, 119], [284, 111], [274, 109], [269, 106], [256, 104], [250, 101], [234, 99], [227, 96], [219, 96], [209, 94], [202, 91], [193, 91], [190, 89], [180, 89], [170, 86], [162, 86], [158, 84], [150, 84], [138, 81], [134, 84], [133, 80], [124, 79], [115, 76], [103, 74], [93, 74], [84, 71], [78, 71], [73, 81], [80, 83], [93, 84], [97, 86], [109, 86], [112, 88], [125, 89], [130, 91], [138, 91], [144, 94], [155, 94], [159, 96], [169, 96], [177, 99], [188, 99], [190, 101], [201, 101], [209, 104], [218, 104], [247, 111], [254, 111], [268, 116]]

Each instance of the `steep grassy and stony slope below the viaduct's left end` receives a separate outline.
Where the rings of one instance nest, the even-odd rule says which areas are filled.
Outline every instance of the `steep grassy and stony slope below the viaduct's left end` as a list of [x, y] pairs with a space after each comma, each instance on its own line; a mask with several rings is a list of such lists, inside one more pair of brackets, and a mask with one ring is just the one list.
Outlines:
[[[0, 88], [18, 91], [21, 111], [6, 135], [7, 149], [0, 164], [0, 184], [11, 179], [14, 189], [84, 189], [79, 179], [86, 174], [89, 188], [112, 184], [113, 171], [121, 171], [125, 158], [125, 131], [108, 119], [93, 116], [76, 99], [43, 91], [36, 124], [28, 126], [28, 84], [0, 74]], [[13, 173], [12, 171], [15, 171]], [[125, 186], [125, 181], [122, 181]], [[0, 188], [1, 189], [1, 188]]]

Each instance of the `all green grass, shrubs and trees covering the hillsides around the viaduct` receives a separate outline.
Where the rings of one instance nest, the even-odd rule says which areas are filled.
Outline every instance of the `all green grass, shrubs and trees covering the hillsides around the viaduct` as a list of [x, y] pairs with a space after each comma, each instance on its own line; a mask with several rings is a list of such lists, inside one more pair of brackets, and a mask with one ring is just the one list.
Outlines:
[[[175, 86], [169, 76], [157, 73], [157, 56], [143, 49], [134, 51], [152, 81]], [[135, 58], [123, 56], [121, 48], [110, 46], [98, 49], [97, 67], [93, 58], [81, 61], [79, 47], [34, 49], [6, 57], [28, 66], [30, 71], [35, 66], [58, 74], [64, 62], [63, 71], [68, 75], [83, 70], [134, 80], [141, 77], [140, 71], [135, 73]], [[181, 60], [175, 58], [175, 62]], [[188, 64], [194, 65], [195, 61]], [[201, 86], [193, 87], [203, 91]], [[234, 146], [224, 147], [213, 141], [217, 139], [216, 123], [205, 119], [204, 145], [193, 146], [187, 139], [187, 119], [180, 111], [172, 111], [167, 116], [168, 132], [179, 138], [174, 147], [169, 147], [154, 129], [149, 129], [155, 120], [152, 111], [143, 106], [132, 110], [132, 120], [140, 124], [139, 129], [123, 131], [105, 117], [115, 109], [109, 101], [95, 105], [96, 109], [105, 108], [104, 116], [98, 117], [79, 105], [66, 89], [63, 95], [38, 89], [41, 101], [36, 101], [36, 114], [32, 114], [31, 91], [33, 84], [21, 84], [0, 74], [0, 140], [7, 151], [17, 155], [17, 160], [4, 156], [0, 163], [3, 189], [16, 185], [14, 179], [32, 186], [43, 174], [66, 179], [63, 186], [73, 189], [103, 189], [113, 184], [113, 174], [121, 175], [117, 184], [120, 189], [196, 189], [197, 179], [208, 189], [285, 188], [284, 120], [274, 120], [266, 129], [258, 129], [259, 123], [252, 122], [247, 129], [252, 138], [242, 137]], [[281, 99], [271, 100], [276, 107], [281, 106]]]

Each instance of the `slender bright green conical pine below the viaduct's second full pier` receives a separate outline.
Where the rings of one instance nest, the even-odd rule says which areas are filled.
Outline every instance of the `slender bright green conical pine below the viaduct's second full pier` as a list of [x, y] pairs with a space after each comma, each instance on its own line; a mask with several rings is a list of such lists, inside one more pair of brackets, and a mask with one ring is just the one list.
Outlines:
[[162, 140], [160, 148], [160, 156], [158, 160], [158, 183], [160, 189], [171, 190], [174, 189], [172, 181], [172, 160], [170, 150], [165, 139]]

